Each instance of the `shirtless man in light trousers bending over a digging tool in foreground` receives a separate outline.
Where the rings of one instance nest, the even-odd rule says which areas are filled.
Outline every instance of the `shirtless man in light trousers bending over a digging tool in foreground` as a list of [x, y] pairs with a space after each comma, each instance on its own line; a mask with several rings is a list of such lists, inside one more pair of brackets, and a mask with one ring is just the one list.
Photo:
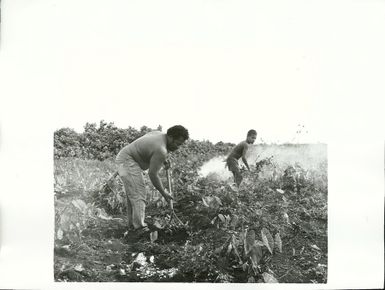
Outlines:
[[148, 175], [154, 187], [167, 202], [172, 196], [166, 192], [159, 178], [159, 170], [165, 163], [169, 152], [177, 150], [187, 139], [189, 133], [183, 126], [169, 128], [164, 134], [153, 131], [125, 146], [116, 156], [118, 173], [127, 195], [128, 227], [142, 232], [149, 231], [144, 222], [146, 209], [146, 188], [143, 171]]

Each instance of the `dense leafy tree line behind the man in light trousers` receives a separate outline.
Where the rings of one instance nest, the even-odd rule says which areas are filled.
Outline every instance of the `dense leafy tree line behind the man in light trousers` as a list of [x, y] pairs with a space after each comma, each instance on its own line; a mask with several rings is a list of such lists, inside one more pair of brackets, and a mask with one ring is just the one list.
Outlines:
[[[82, 133], [77, 133], [71, 128], [61, 128], [54, 132], [54, 157], [93, 160], [115, 158], [125, 145], [153, 130], [162, 131], [162, 126], [159, 125], [155, 129], [142, 126], [139, 130], [128, 126], [126, 129], [121, 129], [113, 122], [107, 123], [102, 120], [99, 125], [87, 122]], [[210, 141], [190, 139], [181, 150], [178, 150], [178, 154], [184, 155], [190, 152], [227, 154], [232, 146], [234, 146], [232, 143], [212, 144]]]

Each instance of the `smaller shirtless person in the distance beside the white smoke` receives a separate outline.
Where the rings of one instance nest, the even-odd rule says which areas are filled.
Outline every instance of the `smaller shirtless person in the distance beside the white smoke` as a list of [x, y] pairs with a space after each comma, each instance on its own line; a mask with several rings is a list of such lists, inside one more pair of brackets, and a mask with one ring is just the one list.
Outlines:
[[247, 160], [246, 160], [246, 152], [247, 152], [247, 149], [249, 148], [249, 145], [253, 144], [256, 138], [257, 138], [257, 131], [253, 129], [249, 130], [249, 132], [247, 132], [246, 140], [242, 141], [237, 146], [235, 146], [231, 151], [230, 155], [226, 159], [226, 165], [229, 168], [229, 170], [233, 173], [234, 181], [238, 187], [241, 184], [243, 179], [241, 171], [239, 170], [238, 160], [239, 158], [242, 157], [242, 161], [246, 165], [246, 168], [250, 170], [249, 164], [247, 163]]

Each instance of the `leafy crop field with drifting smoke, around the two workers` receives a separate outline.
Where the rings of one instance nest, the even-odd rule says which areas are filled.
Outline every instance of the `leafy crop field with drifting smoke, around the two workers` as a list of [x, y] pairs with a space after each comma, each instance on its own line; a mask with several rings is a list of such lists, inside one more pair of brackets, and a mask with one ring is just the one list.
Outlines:
[[127, 231], [119, 177], [103, 187], [113, 158], [55, 158], [55, 281], [326, 283], [326, 145], [254, 146], [237, 190], [231, 147], [197, 144], [171, 154], [180, 222], [145, 173], [141, 237]]

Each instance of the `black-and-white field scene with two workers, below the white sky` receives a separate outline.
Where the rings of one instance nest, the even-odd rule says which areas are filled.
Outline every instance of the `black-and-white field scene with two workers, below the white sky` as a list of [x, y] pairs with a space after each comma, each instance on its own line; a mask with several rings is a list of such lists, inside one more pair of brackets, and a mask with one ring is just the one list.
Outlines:
[[55, 131], [56, 281], [326, 283], [326, 144], [243, 131]]

